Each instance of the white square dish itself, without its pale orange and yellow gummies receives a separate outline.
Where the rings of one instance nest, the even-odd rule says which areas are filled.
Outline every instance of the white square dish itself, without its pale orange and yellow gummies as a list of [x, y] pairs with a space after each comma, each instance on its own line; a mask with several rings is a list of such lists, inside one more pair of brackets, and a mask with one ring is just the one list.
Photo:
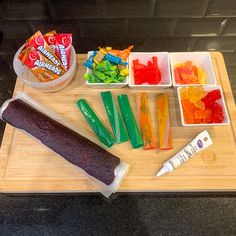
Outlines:
[[[206, 84], [178, 84], [175, 81], [174, 69], [177, 63], [184, 63], [185, 61], [192, 61], [197, 67], [201, 67], [206, 72]], [[215, 85], [216, 78], [209, 52], [173, 52], [170, 53], [170, 66], [173, 86], [204, 86]]]

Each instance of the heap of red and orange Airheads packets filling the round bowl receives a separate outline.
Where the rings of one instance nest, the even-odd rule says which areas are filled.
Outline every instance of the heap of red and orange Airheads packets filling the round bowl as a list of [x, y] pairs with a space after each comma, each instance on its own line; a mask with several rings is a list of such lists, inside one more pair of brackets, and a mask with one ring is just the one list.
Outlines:
[[42, 35], [37, 31], [26, 41], [18, 58], [38, 81], [48, 82], [61, 77], [70, 69], [71, 51], [71, 34], [54, 30]]

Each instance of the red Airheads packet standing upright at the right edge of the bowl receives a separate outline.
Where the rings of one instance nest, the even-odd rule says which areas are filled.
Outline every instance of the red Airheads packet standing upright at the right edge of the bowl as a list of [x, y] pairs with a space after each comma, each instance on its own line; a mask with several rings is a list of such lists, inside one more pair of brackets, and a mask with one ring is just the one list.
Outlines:
[[70, 56], [71, 56], [71, 34], [56, 34], [56, 56], [61, 60], [64, 68], [68, 70], [70, 68]]

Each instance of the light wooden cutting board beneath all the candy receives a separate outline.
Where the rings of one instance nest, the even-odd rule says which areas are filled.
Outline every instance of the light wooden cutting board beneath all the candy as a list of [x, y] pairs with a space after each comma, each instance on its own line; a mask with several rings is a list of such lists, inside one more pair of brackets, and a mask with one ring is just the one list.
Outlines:
[[[229, 111], [231, 125], [207, 127], [213, 145], [202, 151], [174, 172], [157, 178], [155, 173], [162, 163], [180, 150], [204, 127], [181, 127], [179, 106], [175, 89], [164, 90], [169, 94], [171, 127], [174, 149], [170, 151], [131, 148], [130, 142], [116, 144], [109, 149], [122, 160], [130, 163], [129, 173], [120, 191], [232, 191], [236, 190], [236, 107], [224, 59], [218, 52], [211, 53], [217, 84], [221, 85]], [[77, 73], [73, 82], [57, 93], [42, 93], [16, 81], [15, 91], [24, 91], [77, 126], [83, 135], [97, 142], [85, 119], [76, 107], [79, 98], [85, 98], [99, 113], [111, 130], [100, 97], [101, 89], [86, 87], [82, 62], [86, 55], [78, 55]], [[140, 90], [127, 88], [112, 90], [117, 94], [127, 93], [133, 110], [136, 110], [135, 94]], [[163, 90], [146, 90], [156, 127], [155, 96]], [[157, 133], [157, 132], [156, 132]], [[97, 142], [98, 143], [98, 142]], [[90, 192], [90, 185], [80, 171], [48, 150], [28, 135], [6, 125], [0, 150], [1, 192]]]

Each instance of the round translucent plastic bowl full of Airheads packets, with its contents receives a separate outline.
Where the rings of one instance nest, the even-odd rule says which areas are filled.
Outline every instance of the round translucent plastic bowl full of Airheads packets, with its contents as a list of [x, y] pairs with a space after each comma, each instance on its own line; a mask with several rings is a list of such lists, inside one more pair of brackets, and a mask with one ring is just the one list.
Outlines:
[[16, 52], [15, 73], [25, 84], [44, 92], [64, 88], [76, 69], [76, 53], [71, 43], [71, 34], [36, 32]]

